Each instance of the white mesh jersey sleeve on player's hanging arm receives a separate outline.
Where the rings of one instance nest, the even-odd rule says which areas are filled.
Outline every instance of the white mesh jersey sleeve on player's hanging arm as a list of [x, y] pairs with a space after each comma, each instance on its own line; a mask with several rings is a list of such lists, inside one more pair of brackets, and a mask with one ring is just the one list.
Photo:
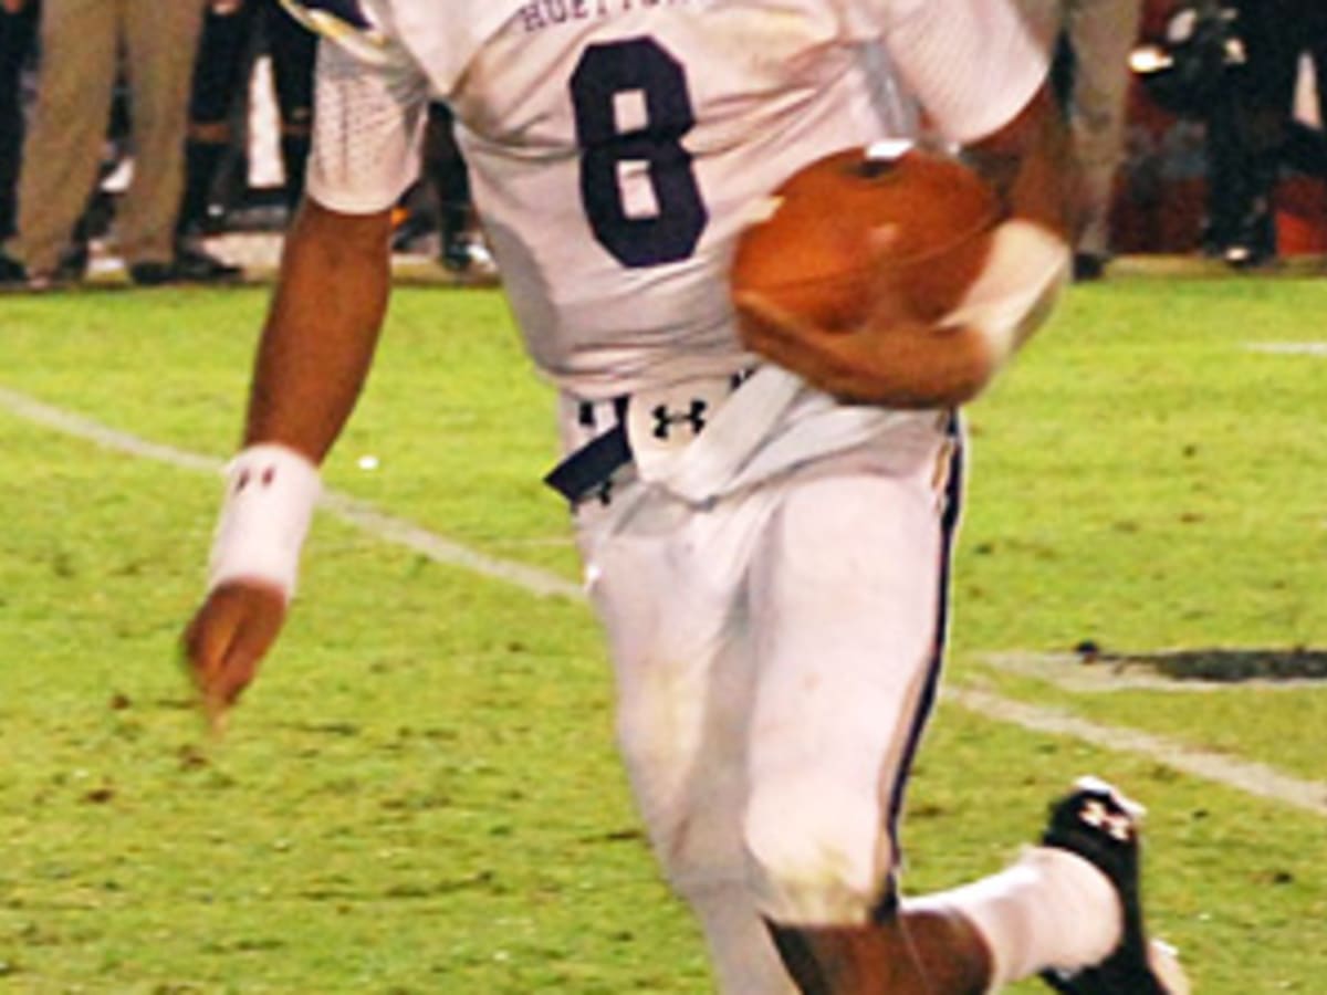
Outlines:
[[403, 49], [365, 64], [318, 45], [308, 194], [344, 214], [397, 203], [419, 172], [429, 85]]

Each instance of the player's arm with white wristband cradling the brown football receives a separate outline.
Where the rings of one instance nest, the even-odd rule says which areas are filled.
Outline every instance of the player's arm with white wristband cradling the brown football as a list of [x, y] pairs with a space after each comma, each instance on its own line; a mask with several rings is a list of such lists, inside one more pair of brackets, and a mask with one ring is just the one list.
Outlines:
[[[847, 330], [808, 325], [739, 295], [746, 344], [847, 401], [900, 409], [973, 399], [1044, 317], [1067, 265], [1072, 172], [1054, 102], [1040, 90], [967, 157], [999, 192], [1003, 223], [965, 306], [934, 322], [913, 312], [881, 268], [869, 317]], [[884, 256], [888, 245], [881, 245]], [[1026, 291], [1026, 292], [1024, 292]]]

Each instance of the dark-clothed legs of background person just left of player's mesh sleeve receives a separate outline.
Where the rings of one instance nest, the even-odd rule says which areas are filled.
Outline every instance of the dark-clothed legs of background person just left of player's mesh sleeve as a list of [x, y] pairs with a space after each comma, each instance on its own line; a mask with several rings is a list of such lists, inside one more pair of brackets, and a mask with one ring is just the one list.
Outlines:
[[[190, 97], [184, 194], [178, 224], [186, 245], [196, 245], [200, 235], [222, 227], [220, 219], [230, 204], [226, 194], [219, 195], [218, 186], [236, 167], [247, 171], [244, 122], [249, 111], [249, 82], [263, 50], [272, 68], [287, 216], [304, 195], [317, 38], [277, 0], [212, 0], [203, 23]], [[247, 183], [236, 186], [247, 187]]]

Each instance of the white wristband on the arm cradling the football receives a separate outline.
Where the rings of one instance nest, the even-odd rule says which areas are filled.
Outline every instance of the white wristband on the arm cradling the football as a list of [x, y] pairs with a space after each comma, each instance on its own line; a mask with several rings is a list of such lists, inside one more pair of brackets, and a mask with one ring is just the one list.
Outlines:
[[999, 365], [1050, 314], [1068, 272], [1062, 237], [1032, 222], [1005, 222], [991, 235], [986, 265], [945, 324], [979, 332]]

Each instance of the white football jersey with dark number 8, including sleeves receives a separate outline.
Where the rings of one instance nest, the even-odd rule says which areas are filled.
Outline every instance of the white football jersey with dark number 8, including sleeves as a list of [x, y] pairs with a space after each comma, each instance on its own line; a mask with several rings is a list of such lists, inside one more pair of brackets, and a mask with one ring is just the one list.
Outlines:
[[886, 137], [874, 46], [955, 141], [1002, 126], [1046, 70], [1007, 0], [360, 5], [376, 57], [322, 46], [309, 194], [393, 204], [446, 100], [529, 352], [585, 398], [750, 365], [734, 241], [799, 167]]

